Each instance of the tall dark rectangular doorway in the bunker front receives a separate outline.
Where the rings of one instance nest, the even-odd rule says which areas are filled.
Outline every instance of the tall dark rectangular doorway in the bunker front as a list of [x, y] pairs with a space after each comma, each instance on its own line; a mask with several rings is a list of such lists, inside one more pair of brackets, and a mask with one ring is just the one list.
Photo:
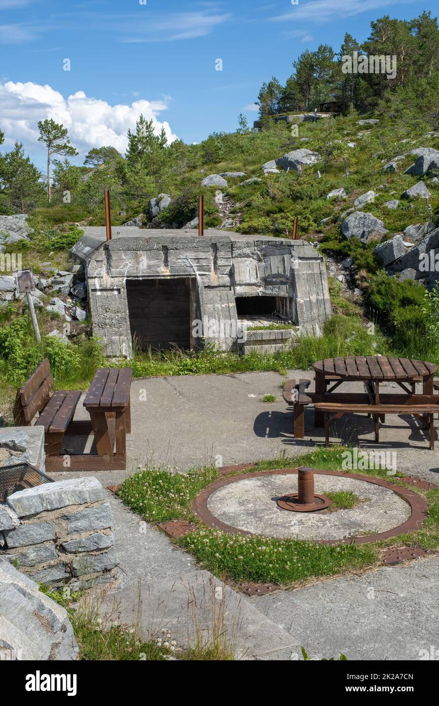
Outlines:
[[127, 280], [132, 343], [141, 350], [190, 348], [190, 278]]

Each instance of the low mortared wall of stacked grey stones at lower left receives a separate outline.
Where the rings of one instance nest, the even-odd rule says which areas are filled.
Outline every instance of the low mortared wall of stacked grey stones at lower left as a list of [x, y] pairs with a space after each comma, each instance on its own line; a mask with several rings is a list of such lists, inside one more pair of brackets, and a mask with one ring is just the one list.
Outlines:
[[0, 505], [0, 556], [47, 585], [91, 587], [117, 578], [113, 515], [94, 477], [18, 491]]

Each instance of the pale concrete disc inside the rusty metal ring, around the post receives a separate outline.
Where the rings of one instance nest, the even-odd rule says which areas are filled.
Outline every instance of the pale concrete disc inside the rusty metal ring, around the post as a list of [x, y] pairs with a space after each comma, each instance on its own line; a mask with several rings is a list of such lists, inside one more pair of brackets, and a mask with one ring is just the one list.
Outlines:
[[207, 507], [225, 525], [267, 537], [343, 539], [386, 532], [408, 520], [411, 509], [396, 493], [366, 481], [315, 474], [315, 491], [351, 491], [362, 502], [350, 510], [328, 508], [314, 513], [281, 510], [276, 500], [297, 493], [297, 475], [245, 478], [212, 493]]

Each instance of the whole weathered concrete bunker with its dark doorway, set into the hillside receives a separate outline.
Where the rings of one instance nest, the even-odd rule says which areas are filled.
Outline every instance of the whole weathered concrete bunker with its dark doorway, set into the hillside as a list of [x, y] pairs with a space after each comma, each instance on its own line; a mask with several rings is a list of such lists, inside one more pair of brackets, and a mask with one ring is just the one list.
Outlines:
[[72, 254], [109, 357], [130, 358], [133, 342], [241, 350], [242, 320], [274, 314], [319, 335], [331, 315], [325, 263], [304, 240], [114, 227], [107, 241], [104, 227], [87, 227]]

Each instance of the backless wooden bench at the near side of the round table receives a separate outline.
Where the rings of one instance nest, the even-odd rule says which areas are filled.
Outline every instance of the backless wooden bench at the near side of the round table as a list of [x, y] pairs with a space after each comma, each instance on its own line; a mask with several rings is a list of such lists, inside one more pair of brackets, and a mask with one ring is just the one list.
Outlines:
[[375, 441], [379, 441], [379, 419], [385, 414], [414, 414], [428, 424], [430, 433], [430, 449], [434, 450], [433, 414], [439, 412], [439, 405], [354, 405], [338, 402], [316, 402], [314, 408], [325, 414], [325, 445], [329, 446], [330, 420], [340, 419], [349, 412], [357, 414], [372, 414], [375, 422]]

